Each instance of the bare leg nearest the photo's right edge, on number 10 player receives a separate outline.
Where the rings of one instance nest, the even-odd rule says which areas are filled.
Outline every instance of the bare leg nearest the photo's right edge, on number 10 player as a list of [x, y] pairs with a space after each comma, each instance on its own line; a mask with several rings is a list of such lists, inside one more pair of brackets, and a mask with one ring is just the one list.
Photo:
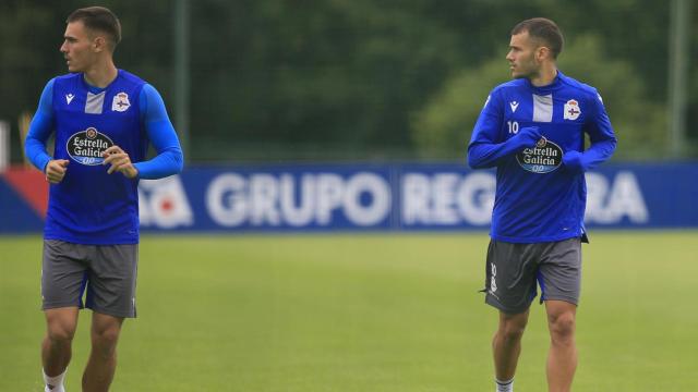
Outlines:
[[550, 353], [547, 355], [547, 390], [568, 392], [577, 369], [575, 318], [577, 306], [564, 301], [546, 301]]

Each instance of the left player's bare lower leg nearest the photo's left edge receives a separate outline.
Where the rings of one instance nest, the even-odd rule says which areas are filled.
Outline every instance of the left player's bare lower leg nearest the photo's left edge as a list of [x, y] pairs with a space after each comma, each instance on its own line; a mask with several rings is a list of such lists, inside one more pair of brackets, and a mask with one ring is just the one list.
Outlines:
[[41, 364], [49, 377], [61, 375], [72, 356], [71, 345], [77, 328], [77, 307], [47, 309], [46, 336], [41, 343]]

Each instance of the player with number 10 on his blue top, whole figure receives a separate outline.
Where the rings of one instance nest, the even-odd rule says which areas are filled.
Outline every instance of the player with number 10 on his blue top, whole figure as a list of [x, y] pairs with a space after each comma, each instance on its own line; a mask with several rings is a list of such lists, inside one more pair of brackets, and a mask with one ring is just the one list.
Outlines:
[[492, 342], [498, 392], [514, 390], [537, 281], [551, 335], [549, 391], [569, 391], [577, 367], [585, 172], [611, 157], [616, 138], [597, 90], [557, 70], [563, 42], [547, 19], [514, 27], [506, 56], [514, 79], [491, 91], [468, 146], [471, 168], [496, 168], [483, 291], [500, 310]]

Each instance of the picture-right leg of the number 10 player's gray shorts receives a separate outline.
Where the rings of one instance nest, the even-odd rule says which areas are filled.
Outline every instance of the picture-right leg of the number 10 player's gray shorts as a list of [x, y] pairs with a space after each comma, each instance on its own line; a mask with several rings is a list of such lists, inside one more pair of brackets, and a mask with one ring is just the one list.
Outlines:
[[539, 267], [541, 301], [577, 305], [581, 286], [581, 241], [569, 238], [546, 245]]

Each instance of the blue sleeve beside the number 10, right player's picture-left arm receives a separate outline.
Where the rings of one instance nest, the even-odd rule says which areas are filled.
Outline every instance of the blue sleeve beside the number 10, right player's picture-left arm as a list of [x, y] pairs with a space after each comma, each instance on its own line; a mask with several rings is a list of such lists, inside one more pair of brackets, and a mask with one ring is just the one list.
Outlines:
[[495, 167], [502, 158], [527, 147], [527, 140], [521, 137], [508, 139], [503, 137], [502, 117], [504, 110], [502, 102], [498, 90], [494, 90], [488, 97], [484, 108], [480, 112], [468, 145], [468, 164], [472, 169]]

